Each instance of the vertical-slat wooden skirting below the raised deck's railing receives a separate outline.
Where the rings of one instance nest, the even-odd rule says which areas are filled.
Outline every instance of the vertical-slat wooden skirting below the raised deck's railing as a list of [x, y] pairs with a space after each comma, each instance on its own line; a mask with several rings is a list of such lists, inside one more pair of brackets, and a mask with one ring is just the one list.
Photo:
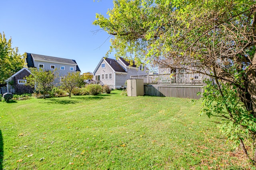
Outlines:
[[[204, 85], [200, 84], [184, 84], [184, 85], [160, 85], [160, 84], [144, 84], [144, 94], [148, 96], [173, 97], [173, 98], [189, 98], [200, 99]], [[198, 94], [201, 93], [201, 94]]]

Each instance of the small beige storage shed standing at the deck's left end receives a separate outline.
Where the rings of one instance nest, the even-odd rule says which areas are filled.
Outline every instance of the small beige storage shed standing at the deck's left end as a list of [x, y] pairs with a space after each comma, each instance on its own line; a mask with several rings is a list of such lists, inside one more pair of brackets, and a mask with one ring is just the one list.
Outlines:
[[127, 80], [127, 96], [143, 96], [144, 82], [143, 79]]

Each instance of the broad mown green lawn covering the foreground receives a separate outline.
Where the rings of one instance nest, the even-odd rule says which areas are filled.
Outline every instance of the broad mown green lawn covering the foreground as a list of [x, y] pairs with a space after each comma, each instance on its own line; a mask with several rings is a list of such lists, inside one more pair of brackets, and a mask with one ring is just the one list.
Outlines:
[[200, 106], [118, 90], [0, 102], [0, 170], [250, 169]]

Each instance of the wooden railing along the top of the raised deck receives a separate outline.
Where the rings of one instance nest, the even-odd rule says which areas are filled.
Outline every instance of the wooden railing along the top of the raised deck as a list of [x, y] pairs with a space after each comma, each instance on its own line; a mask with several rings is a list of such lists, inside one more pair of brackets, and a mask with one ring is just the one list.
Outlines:
[[132, 79], [143, 79], [144, 84], [205, 84], [209, 77], [201, 73], [171, 73], [130, 76]]

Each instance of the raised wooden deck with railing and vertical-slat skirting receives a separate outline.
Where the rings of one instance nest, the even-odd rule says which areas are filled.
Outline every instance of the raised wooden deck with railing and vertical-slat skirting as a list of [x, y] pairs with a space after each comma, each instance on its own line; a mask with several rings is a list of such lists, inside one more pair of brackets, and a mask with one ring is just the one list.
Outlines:
[[208, 77], [200, 73], [174, 73], [138, 75], [130, 78], [143, 79], [144, 94], [148, 96], [200, 99], [206, 85], [204, 80]]

